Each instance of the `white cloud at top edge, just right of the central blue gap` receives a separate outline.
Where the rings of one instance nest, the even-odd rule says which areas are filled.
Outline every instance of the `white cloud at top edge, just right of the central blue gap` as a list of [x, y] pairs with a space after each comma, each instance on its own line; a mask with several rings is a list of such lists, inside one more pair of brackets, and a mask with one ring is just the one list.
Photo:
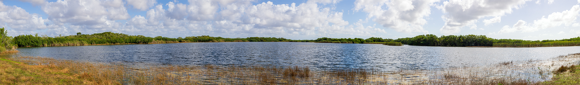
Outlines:
[[362, 10], [368, 13], [369, 18], [374, 18], [383, 27], [394, 29], [397, 32], [429, 32], [423, 29], [427, 23], [425, 17], [431, 14], [433, 2], [438, 0], [405, 0], [405, 1], [382, 1], [382, 0], [357, 0], [354, 10]]

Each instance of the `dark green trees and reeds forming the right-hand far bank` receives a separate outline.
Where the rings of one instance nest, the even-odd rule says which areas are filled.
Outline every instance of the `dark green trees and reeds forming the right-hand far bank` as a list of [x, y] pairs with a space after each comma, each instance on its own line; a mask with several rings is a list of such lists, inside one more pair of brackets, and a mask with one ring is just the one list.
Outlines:
[[555, 47], [580, 46], [580, 36], [560, 40], [493, 39], [485, 35], [418, 35], [413, 38], [399, 38], [401, 42], [413, 46], [487, 46], [487, 47]]

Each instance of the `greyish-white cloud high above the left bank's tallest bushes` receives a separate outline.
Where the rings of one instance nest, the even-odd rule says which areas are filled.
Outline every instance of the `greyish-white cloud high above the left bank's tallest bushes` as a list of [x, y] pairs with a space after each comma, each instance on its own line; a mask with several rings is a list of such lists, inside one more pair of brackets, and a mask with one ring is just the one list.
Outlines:
[[99, 25], [111, 20], [129, 19], [121, 0], [111, 1], [57, 1], [46, 3], [42, 10], [57, 25]]

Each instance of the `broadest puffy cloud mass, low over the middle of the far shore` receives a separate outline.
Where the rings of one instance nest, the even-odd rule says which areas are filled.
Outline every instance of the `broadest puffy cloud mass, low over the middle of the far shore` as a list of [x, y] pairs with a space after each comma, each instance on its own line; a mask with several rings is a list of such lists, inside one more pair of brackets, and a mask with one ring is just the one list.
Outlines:
[[274, 2], [252, 5], [252, 1], [190, 1], [189, 5], [169, 2], [165, 4], [166, 9], [157, 5], [146, 16], [129, 19], [124, 31], [278, 36], [372, 36], [371, 33], [385, 32], [362, 24], [349, 25], [342, 19], [343, 13], [318, 5], [336, 2], [307, 1], [299, 5]]

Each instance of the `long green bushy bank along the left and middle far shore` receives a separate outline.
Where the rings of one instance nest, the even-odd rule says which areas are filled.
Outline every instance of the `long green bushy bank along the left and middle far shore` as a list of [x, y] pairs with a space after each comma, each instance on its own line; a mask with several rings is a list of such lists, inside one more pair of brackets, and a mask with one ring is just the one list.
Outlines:
[[[8, 39], [12, 39], [9, 37]], [[85, 35], [80, 32], [77, 35], [54, 36], [46, 35], [19, 35], [13, 38], [13, 45], [27, 46], [86, 46], [86, 45], [119, 45], [119, 44], [151, 44], [151, 43], [182, 43], [182, 42], [319, 42], [319, 43], [365, 43], [365, 42], [392, 42], [393, 39], [369, 38], [369, 39], [332, 39], [318, 38], [317, 40], [292, 40], [285, 38], [222, 38], [212, 36], [187, 36], [185, 38], [167, 38], [156, 36], [154, 38], [143, 35], [126, 35], [113, 32], [103, 32]], [[400, 45], [399, 45], [400, 46]]]

